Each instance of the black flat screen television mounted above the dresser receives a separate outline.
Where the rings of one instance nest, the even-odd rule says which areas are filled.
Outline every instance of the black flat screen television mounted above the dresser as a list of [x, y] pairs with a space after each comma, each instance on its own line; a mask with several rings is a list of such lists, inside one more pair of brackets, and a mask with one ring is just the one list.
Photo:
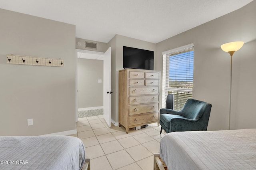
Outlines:
[[123, 67], [131, 69], [154, 70], [154, 51], [123, 47]]

